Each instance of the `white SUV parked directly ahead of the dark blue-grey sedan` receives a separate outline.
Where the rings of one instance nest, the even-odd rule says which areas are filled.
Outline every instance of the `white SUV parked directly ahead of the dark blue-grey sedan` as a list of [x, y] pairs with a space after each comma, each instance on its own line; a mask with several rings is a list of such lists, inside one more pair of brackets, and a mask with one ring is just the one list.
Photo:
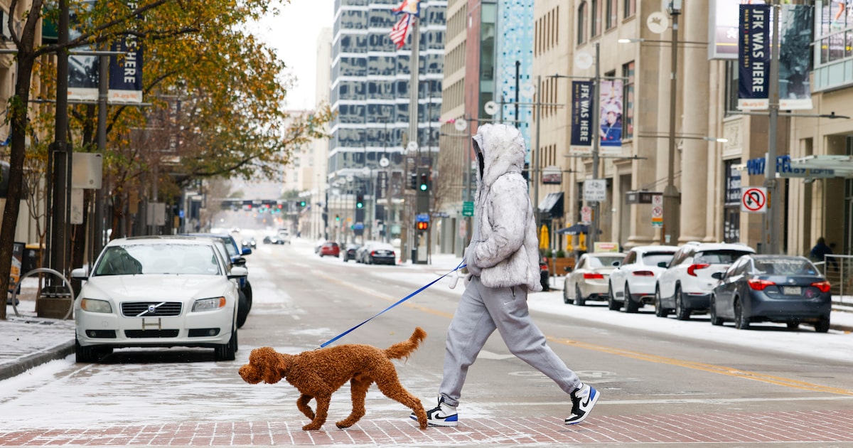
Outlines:
[[684, 244], [666, 265], [666, 271], [658, 276], [654, 288], [655, 315], [666, 317], [674, 311], [679, 320], [687, 320], [693, 311], [707, 312], [711, 291], [717, 285], [717, 279], [711, 275], [726, 271], [734, 260], [747, 253], [755, 251], [740, 243]]

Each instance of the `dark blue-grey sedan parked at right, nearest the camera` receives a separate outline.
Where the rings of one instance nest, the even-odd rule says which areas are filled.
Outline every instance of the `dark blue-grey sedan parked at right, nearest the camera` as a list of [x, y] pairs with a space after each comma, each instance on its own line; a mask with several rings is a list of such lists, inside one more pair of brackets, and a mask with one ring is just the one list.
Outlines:
[[744, 255], [725, 272], [711, 293], [711, 323], [734, 321], [736, 329], [751, 323], [786, 323], [796, 329], [809, 323], [818, 333], [829, 330], [832, 294], [821, 271], [805, 257]]

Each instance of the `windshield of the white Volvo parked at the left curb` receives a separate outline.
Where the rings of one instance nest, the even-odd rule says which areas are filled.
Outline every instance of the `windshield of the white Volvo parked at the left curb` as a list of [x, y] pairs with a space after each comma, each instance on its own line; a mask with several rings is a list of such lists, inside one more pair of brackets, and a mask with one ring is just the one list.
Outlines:
[[221, 275], [211, 246], [198, 244], [131, 244], [104, 250], [95, 276], [150, 274]]

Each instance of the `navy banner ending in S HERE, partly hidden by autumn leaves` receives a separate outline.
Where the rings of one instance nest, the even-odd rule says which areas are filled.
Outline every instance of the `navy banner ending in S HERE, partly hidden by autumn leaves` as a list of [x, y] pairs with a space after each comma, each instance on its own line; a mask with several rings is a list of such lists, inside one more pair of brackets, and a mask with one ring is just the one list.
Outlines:
[[142, 45], [136, 36], [127, 35], [113, 42], [109, 60], [109, 102], [142, 102]]

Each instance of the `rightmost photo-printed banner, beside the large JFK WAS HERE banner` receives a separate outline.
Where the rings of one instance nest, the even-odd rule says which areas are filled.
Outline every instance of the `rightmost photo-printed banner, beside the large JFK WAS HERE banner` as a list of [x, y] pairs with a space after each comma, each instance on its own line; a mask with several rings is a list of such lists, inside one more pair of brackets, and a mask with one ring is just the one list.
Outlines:
[[812, 26], [815, 9], [810, 5], [783, 4], [779, 16], [779, 108], [810, 109]]

